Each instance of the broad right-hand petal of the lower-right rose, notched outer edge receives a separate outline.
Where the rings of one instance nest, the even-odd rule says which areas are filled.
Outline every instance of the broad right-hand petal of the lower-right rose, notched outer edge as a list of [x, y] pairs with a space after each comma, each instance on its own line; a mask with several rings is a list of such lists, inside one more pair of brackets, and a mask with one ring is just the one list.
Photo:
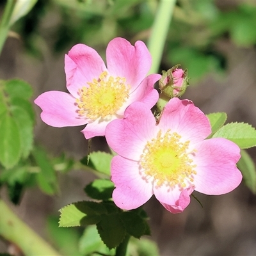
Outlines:
[[221, 195], [237, 188], [242, 180], [236, 168], [240, 149], [224, 138], [204, 140], [196, 145], [195, 190], [207, 195]]

